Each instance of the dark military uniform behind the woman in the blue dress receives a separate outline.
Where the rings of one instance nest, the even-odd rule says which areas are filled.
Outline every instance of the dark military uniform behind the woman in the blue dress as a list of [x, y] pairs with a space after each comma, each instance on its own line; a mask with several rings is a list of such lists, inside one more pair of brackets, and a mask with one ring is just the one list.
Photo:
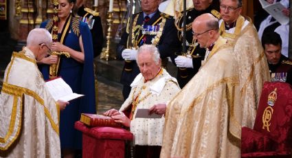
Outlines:
[[80, 21], [87, 23], [89, 26], [93, 43], [93, 58], [95, 58], [102, 52], [103, 32], [100, 16], [98, 12], [85, 8], [83, 5], [77, 13], [80, 16]]

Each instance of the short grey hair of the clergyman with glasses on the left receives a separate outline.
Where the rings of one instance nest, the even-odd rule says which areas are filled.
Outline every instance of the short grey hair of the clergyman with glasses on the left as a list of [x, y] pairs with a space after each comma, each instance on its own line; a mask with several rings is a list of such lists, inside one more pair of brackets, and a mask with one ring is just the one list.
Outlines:
[[41, 43], [52, 43], [52, 35], [44, 28], [35, 28], [30, 31], [26, 39], [27, 46], [36, 46]]

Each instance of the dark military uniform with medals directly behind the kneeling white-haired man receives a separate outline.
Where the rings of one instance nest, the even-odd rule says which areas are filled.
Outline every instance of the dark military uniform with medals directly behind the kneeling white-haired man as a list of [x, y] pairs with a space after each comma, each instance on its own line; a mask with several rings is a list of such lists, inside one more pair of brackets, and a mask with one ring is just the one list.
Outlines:
[[[135, 23], [135, 17], [137, 17], [137, 25], [142, 25], [144, 23], [144, 14], [143, 12], [139, 12], [133, 14], [133, 23]], [[162, 17], [162, 18], [161, 18]], [[159, 49], [160, 58], [171, 57], [175, 56], [175, 52], [179, 49], [179, 40], [177, 39], [177, 31], [175, 29], [175, 21], [172, 16], [168, 16], [166, 14], [162, 14], [157, 10], [157, 12], [153, 15], [153, 17], [144, 25], [159, 25], [159, 23], [163, 23], [165, 19], [165, 25], [162, 30], [162, 35], [159, 38], [159, 43], [157, 43], [157, 48]], [[127, 26], [128, 27], [128, 26]], [[135, 26], [133, 26], [134, 28]], [[127, 29], [128, 30], [128, 29]], [[133, 38], [137, 41], [137, 47], [145, 44], [153, 44], [151, 41], [157, 35], [150, 35], [150, 34], [142, 34], [142, 30], [135, 30], [135, 35]], [[143, 36], [146, 36], [146, 41], [143, 41]], [[128, 40], [128, 33], [125, 31], [122, 34], [121, 41], [117, 46], [117, 58], [122, 58], [122, 52], [124, 49], [127, 48], [127, 40]], [[132, 45], [133, 47], [133, 45]], [[126, 63], [126, 62], [125, 62]], [[125, 69], [126, 68], [126, 69]], [[121, 76], [121, 83], [124, 85], [123, 88], [123, 95], [124, 99], [128, 98], [128, 94], [131, 91], [130, 84], [133, 82], [137, 74], [139, 74], [139, 68], [137, 67], [137, 63], [135, 60], [132, 60], [131, 63], [126, 63], [124, 65], [124, 69], [122, 71]]]

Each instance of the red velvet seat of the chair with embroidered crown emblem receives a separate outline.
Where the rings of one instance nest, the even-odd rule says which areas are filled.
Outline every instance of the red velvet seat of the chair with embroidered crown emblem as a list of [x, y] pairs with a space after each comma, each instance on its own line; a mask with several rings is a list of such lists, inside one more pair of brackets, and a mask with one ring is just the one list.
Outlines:
[[271, 151], [273, 140], [248, 127], [241, 129], [241, 153]]

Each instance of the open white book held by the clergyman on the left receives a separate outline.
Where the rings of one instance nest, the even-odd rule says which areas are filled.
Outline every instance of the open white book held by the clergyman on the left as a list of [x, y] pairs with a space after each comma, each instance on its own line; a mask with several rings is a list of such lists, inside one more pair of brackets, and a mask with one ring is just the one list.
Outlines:
[[45, 87], [49, 90], [54, 100], [69, 101], [82, 97], [82, 94], [73, 93], [71, 87], [62, 79], [55, 78], [45, 82]]

